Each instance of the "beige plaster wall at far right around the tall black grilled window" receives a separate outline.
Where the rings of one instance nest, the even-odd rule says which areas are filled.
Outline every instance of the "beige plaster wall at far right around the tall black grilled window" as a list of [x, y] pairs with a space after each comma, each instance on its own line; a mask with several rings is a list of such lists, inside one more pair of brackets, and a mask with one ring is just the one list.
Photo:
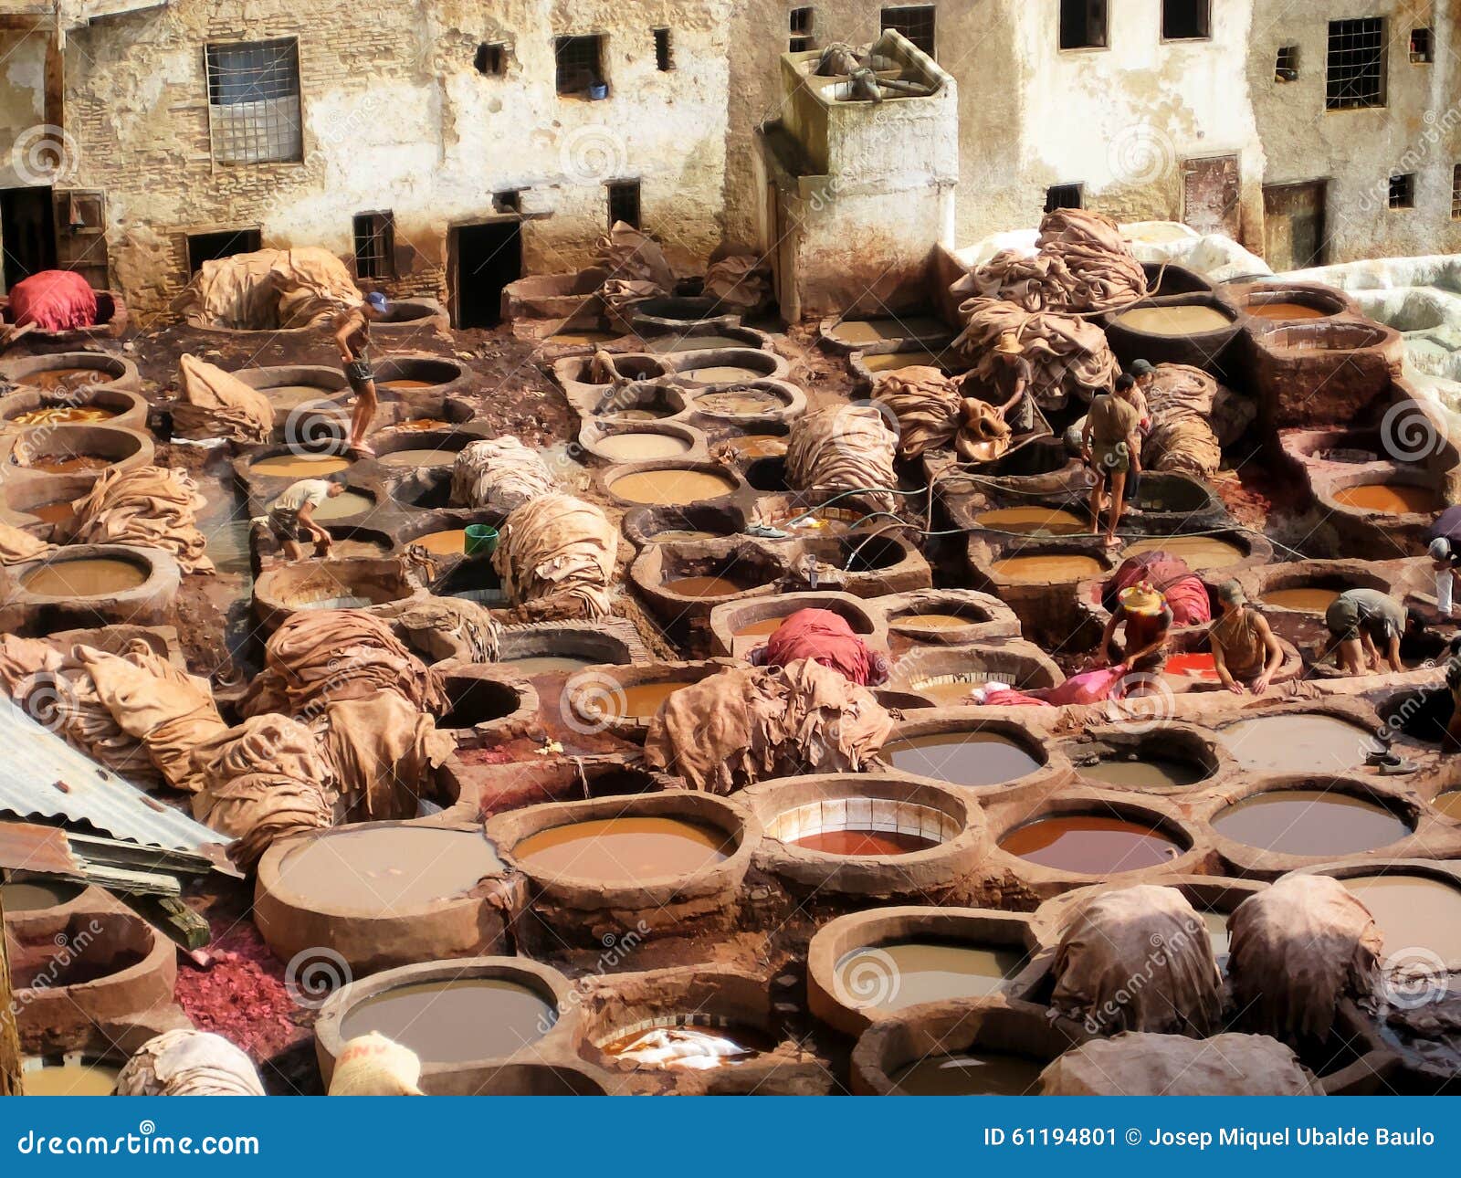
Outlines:
[[[1267, 184], [1328, 180], [1330, 262], [1454, 253], [1451, 175], [1461, 162], [1461, 37], [1458, 0], [1328, 0], [1321, 12], [1255, 0], [1249, 88], [1268, 145]], [[1388, 18], [1386, 104], [1325, 111], [1328, 20]], [[1410, 29], [1432, 26], [1435, 61], [1411, 64]], [[1299, 47], [1299, 77], [1274, 80], [1280, 45]], [[1386, 206], [1391, 172], [1416, 172], [1416, 208]]]

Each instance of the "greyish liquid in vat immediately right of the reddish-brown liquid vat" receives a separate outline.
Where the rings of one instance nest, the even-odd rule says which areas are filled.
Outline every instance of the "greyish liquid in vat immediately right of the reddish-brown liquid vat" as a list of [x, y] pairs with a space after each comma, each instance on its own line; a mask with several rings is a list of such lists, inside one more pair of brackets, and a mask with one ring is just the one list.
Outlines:
[[1354, 855], [1410, 835], [1384, 805], [1337, 789], [1274, 789], [1213, 817], [1226, 839], [1280, 855]]

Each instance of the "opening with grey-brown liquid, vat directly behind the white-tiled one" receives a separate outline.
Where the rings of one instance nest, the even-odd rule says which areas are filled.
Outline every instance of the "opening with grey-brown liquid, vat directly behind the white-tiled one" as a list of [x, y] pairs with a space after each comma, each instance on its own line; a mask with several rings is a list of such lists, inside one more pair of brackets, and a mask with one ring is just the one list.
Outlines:
[[901, 723], [881, 757], [900, 773], [976, 789], [1024, 783], [1050, 766], [1042, 742], [1010, 721]]

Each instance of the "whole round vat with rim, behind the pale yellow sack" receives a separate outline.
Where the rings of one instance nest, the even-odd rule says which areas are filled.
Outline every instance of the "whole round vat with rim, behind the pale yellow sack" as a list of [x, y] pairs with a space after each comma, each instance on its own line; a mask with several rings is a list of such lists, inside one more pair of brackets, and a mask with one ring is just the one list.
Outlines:
[[465, 957], [387, 969], [337, 989], [314, 1026], [329, 1086], [351, 1039], [373, 1030], [421, 1060], [422, 1087], [460, 1068], [538, 1058], [567, 1007], [568, 981], [526, 957]]

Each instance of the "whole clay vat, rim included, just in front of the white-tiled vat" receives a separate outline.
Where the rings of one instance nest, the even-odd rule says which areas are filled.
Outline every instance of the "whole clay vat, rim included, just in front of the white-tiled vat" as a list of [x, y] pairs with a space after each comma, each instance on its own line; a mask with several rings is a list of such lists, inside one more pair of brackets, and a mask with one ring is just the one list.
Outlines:
[[1023, 998], [1043, 965], [1030, 918], [982, 908], [881, 908], [839, 916], [806, 949], [812, 1014], [846, 1035], [923, 1003]]

